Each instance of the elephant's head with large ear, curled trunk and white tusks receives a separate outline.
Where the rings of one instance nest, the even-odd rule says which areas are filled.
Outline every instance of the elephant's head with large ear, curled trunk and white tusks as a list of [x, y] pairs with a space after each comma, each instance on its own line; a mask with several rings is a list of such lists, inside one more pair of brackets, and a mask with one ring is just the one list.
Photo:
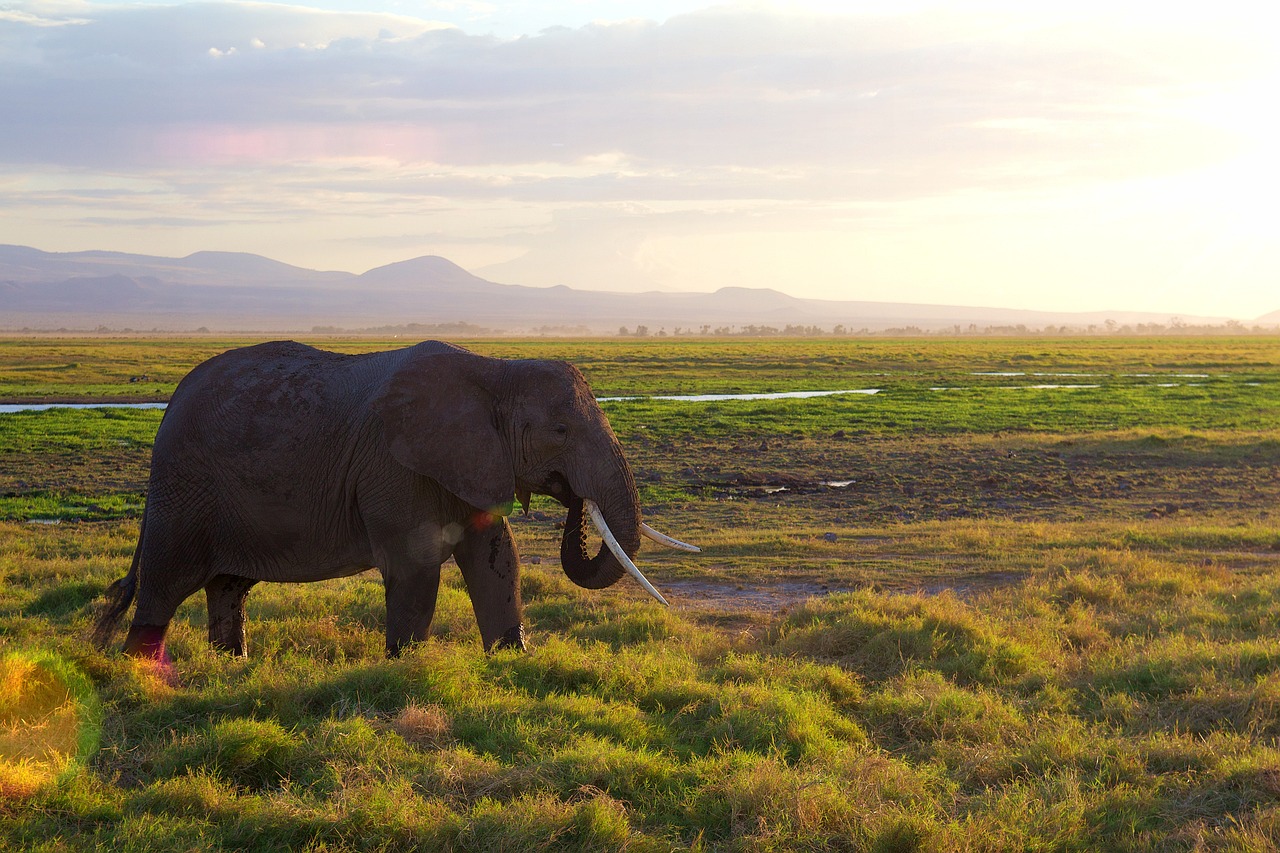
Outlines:
[[[403, 362], [375, 407], [392, 455], [471, 506], [506, 515], [513, 498], [527, 508], [531, 493], [564, 505], [561, 561], [573, 583], [599, 589], [632, 571], [657, 596], [628, 565], [641, 534], [653, 533], [640, 520], [635, 479], [576, 368], [428, 351]], [[605, 542], [609, 532], [616, 538], [595, 556], [584, 524], [593, 510]]]

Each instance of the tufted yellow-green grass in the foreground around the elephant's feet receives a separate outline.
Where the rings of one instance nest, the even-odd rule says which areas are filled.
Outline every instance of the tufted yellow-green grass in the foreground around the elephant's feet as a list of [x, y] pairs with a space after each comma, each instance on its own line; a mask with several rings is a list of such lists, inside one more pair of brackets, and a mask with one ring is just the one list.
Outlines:
[[87, 596], [36, 605], [70, 576], [105, 585], [132, 525], [0, 534], [6, 644], [88, 672], [106, 721], [87, 771], [3, 806], [17, 849], [1280, 840], [1270, 564], [1060, 551], [1016, 587], [863, 589], [755, 634], [531, 567], [534, 648], [492, 657], [452, 573], [436, 637], [397, 661], [370, 578], [269, 587], [247, 661], [206, 649], [184, 608], [170, 685], [84, 646]]

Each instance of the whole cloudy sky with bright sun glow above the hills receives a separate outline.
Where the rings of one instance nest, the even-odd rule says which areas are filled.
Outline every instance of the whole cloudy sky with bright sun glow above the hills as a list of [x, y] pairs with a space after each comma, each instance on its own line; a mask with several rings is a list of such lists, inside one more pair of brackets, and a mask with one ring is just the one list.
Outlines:
[[0, 243], [1249, 320], [1280, 6], [0, 0]]

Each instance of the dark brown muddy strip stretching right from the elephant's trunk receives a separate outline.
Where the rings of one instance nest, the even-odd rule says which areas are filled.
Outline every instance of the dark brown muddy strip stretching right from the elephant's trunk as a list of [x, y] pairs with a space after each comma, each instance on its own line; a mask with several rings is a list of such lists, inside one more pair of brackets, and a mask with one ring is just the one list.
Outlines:
[[1280, 510], [1280, 442], [1239, 434], [746, 438], [639, 447], [632, 464], [641, 484], [805, 506], [836, 524]]

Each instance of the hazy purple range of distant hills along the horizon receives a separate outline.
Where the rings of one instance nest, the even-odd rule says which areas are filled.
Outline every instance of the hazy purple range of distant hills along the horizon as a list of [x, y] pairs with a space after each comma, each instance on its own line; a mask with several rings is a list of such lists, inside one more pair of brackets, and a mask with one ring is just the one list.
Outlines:
[[[1280, 324], [1280, 311], [1267, 315]], [[1267, 323], [1261, 318], [1260, 323]], [[1085, 329], [1169, 324], [1167, 314], [1078, 314], [996, 307], [804, 300], [765, 288], [710, 293], [613, 293], [570, 287], [498, 284], [435, 256], [415, 257], [356, 275], [317, 272], [260, 255], [196, 252], [155, 257], [109, 251], [44, 252], [0, 246], [0, 328], [97, 327], [189, 330], [298, 332], [388, 324], [470, 323], [506, 332], [588, 329], [616, 333], [648, 327], [710, 330], [742, 327], [844, 325], [854, 332], [960, 327]], [[1225, 318], [1180, 318], [1220, 325]]]

